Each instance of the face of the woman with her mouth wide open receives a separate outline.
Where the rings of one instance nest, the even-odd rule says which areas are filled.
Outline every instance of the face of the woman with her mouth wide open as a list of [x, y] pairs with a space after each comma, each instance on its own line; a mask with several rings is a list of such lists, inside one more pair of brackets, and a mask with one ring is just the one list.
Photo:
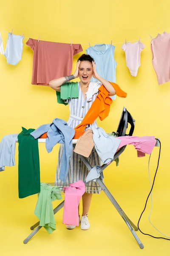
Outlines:
[[88, 83], [93, 75], [92, 63], [89, 61], [81, 61], [79, 65], [79, 79], [83, 83]]

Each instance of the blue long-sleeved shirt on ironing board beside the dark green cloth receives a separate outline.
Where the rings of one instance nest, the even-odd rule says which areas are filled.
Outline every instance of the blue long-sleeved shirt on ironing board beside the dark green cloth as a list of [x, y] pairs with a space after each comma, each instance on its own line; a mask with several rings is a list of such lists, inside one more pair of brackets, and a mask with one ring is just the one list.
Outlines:
[[67, 122], [64, 120], [55, 118], [51, 124], [41, 125], [37, 128], [31, 133], [31, 136], [37, 139], [45, 132], [47, 132], [48, 136], [45, 142], [45, 147], [48, 153], [52, 151], [54, 145], [57, 143], [64, 144], [59, 178], [65, 182], [68, 175], [69, 161], [73, 147], [72, 139], [75, 131], [72, 127], [68, 126]]

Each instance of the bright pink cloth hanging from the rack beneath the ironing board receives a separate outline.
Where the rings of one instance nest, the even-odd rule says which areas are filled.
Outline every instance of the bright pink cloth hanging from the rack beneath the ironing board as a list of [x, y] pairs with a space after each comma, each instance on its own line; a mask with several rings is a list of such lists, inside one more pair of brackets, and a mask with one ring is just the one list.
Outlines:
[[82, 195], [85, 193], [85, 183], [78, 180], [65, 187], [65, 201], [63, 212], [63, 224], [79, 226], [78, 206]]

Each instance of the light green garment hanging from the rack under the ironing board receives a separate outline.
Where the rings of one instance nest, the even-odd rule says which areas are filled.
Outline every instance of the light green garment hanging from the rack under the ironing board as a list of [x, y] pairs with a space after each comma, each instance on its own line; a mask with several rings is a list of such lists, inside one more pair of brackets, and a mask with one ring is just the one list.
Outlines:
[[38, 201], [34, 214], [40, 220], [40, 226], [44, 227], [49, 234], [56, 230], [52, 201], [61, 200], [61, 190], [57, 186], [41, 183]]

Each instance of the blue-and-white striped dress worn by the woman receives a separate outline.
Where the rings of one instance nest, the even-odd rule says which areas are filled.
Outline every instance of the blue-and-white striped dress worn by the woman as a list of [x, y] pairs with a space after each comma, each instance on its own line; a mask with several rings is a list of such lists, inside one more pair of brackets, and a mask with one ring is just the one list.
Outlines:
[[[84, 100], [82, 95], [82, 90], [80, 88], [80, 84], [78, 85], [79, 98], [78, 99], [73, 98], [73, 99], [67, 100], [70, 108], [70, 118], [68, 119], [68, 122], [67, 122], [69, 126], [71, 126], [72, 128], [75, 128], [77, 125], [80, 124], [81, 120], [85, 117], [86, 113], [91, 107], [91, 104], [96, 99], [96, 96], [99, 93], [98, 88], [100, 86], [101, 86], [100, 82], [90, 82], [88, 87], [88, 92], [86, 93], [86, 98]], [[94, 121], [94, 126], [97, 127], [96, 120]], [[90, 125], [87, 125], [85, 130], [87, 130], [89, 127]], [[55, 183], [59, 183], [61, 185], [63, 185], [63, 183], [61, 180], [59, 180], [59, 172], [60, 172], [60, 166], [61, 166], [62, 150], [63, 150], [63, 144], [61, 144], [59, 148], [59, 157], [58, 157], [57, 171], [56, 171], [56, 177], [55, 177]], [[95, 150], [95, 147], [93, 148], [90, 156], [88, 157], [88, 161], [91, 164], [91, 166], [100, 165], [100, 158]], [[66, 182], [74, 183], [78, 180], [85, 181], [88, 175], [88, 172], [89, 172], [88, 168], [82, 162], [79, 155], [74, 153], [74, 151], [72, 150], [68, 177]], [[88, 187], [86, 187], [86, 192], [100, 193], [99, 184], [94, 181], [89, 182]]]

